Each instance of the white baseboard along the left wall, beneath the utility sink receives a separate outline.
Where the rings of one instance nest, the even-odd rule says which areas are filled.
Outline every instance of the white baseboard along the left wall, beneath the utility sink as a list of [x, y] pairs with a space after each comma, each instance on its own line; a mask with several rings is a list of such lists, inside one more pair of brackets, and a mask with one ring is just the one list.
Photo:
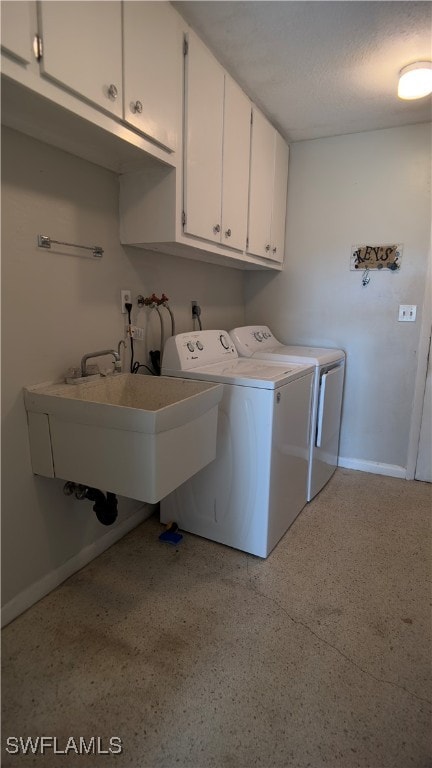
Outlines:
[[24, 613], [28, 608], [37, 603], [43, 597], [52, 592], [53, 589], [58, 587], [63, 581], [72, 576], [77, 571], [81, 570], [85, 565], [90, 563], [95, 557], [101, 555], [106, 549], [109, 549], [116, 541], [123, 538], [129, 531], [136, 528], [137, 525], [147, 520], [152, 514], [153, 509], [148, 504], [141, 506], [130, 517], [123, 520], [115, 528], [108, 531], [104, 536], [101, 536], [97, 541], [88, 544], [84, 549], [78, 552], [77, 555], [67, 560], [59, 568], [47, 573], [42, 579], [39, 579], [35, 584], [32, 584], [27, 589], [20, 592], [16, 597], [10, 600], [9, 603], [2, 608], [1, 612], [1, 626], [5, 627], [6, 624], [10, 624], [11, 621], [16, 619], [21, 613]]

